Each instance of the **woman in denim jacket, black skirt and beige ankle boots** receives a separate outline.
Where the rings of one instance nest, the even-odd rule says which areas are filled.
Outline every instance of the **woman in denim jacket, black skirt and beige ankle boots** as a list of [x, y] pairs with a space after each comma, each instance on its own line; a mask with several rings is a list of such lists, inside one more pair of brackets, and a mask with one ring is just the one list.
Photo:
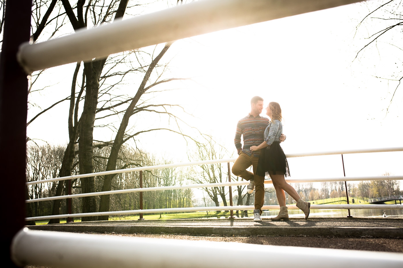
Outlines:
[[283, 133], [280, 105], [276, 102], [270, 102], [266, 108], [266, 114], [270, 117], [271, 122], [264, 131], [264, 142], [259, 146], [251, 146], [250, 150], [252, 152], [260, 150], [256, 173], [260, 176], [270, 175], [274, 189], [276, 189], [280, 213], [275, 218], [271, 218], [271, 220], [289, 219], [288, 209], [285, 206], [285, 192], [297, 200], [297, 207], [304, 212], [306, 220], [309, 216], [311, 204], [304, 202], [297, 191], [285, 181], [285, 177], [290, 176], [290, 171], [283, 149], [280, 147], [280, 136]]

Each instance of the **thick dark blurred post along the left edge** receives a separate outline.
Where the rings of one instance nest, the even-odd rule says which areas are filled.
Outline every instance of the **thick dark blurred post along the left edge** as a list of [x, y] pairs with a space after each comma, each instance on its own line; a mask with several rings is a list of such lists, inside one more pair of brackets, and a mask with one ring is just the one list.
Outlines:
[[29, 41], [31, 0], [7, 0], [6, 6], [0, 56], [0, 169], [2, 212], [9, 217], [1, 228], [5, 257], [2, 266], [17, 267], [10, 258], [10, 245], [25, 225], [28, 101], [27, 74], [17, 62], [17, 52], [21, 43]]

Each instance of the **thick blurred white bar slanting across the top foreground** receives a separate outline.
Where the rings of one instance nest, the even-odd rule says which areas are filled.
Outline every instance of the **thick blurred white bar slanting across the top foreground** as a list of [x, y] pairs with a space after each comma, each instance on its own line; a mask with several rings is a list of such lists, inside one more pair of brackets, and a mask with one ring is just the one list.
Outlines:
[[83, 29], [20, 46], [17, 58], [31, 73], [72, 62], [360, 2], [357, 0], [204, 0]]

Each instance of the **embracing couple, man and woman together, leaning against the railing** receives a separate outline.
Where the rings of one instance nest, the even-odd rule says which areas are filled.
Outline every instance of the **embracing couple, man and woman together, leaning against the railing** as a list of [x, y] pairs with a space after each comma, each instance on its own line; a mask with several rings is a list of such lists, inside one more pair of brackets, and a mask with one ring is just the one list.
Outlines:
[[[238, 150], [238, 158], [232, 167], [232, 173], [249, 181], [248, 194], [255, 189], [255, 209], [253, 221], [262, 221], [262, 206], [264, 204], [264, 177], [269, 175], [272, 179], [280, 213], [271, 220], [288, 220], [288, 210], [285, 206], [285, 192], [297, 201], [297, 207], [308, 218], [311, 204], [304, 202], [297, 191], [285, 181], [290, 176], [287, 159], [280, 147], [280, 142], [285, 140], [283, 125], [281, 124], [281, 108], [276, 102], [270, 102], [266, 107], [266, 115], [270, 120], [261, 117], [263, 99], [255, 96], [251, 99], [251, 111], [239, 120], [235, 133], [235, 147]], [[243, 147], [241, 144], [243, 136]], [[252, 166], [253, 173], [247, 171]]]

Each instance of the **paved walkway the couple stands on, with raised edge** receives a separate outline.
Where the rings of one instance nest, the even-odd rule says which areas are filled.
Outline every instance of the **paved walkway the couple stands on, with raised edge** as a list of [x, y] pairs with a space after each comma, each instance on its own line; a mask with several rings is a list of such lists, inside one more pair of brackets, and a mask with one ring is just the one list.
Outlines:
[[[290, 218], [291, 219], [291, 218]], [[253, 222], [252, 219], [178, 219], [142, 221], [93, 221], [29, 226], [33, 230], [151, 233], [226, 236], [334, 236], [403, 237], [403, 219], [398, 218], [301, 218], [290, 221]]]

